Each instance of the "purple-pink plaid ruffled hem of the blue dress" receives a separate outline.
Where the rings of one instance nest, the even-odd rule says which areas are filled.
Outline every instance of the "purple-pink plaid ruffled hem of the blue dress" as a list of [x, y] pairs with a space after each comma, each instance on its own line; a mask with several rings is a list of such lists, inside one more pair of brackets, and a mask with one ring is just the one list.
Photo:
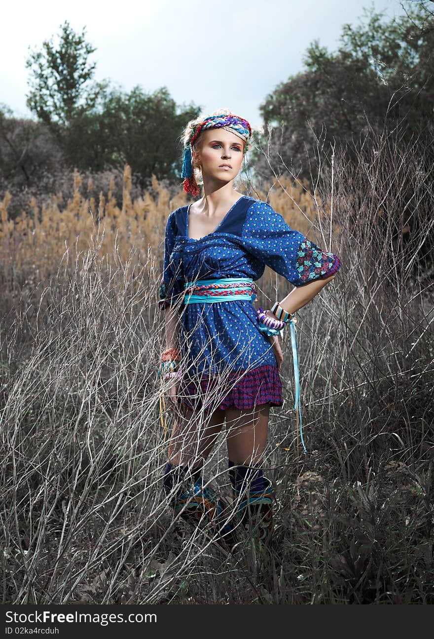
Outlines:
[[[215, 389], [219, 383], [221, 388], [217, 394]], [[283, 404], [279, 371], [276, 366], [268, 364], [251, 369], [247, 373], [229, 371], [225, 373], [224, 381], [216, 376], [206, 375], [201, 375], [198, 381], [182, 380], [178, 387], [178, 397], [190, 410], [203, 407], [204, 411], [248, 409], [260, 404]]]

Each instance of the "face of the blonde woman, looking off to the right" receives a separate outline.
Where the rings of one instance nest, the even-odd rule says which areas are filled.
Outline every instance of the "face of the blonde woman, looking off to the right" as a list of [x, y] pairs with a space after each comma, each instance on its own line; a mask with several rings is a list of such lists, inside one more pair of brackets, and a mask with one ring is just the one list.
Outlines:
[[[210, 128], [200, 137], [197, 164], [202, 167], [202, 175], [225, 182], [233, 180], [243, 164], [244, 141], [224, 128]], [[229, 167], [223, 168], [222, 164]]]

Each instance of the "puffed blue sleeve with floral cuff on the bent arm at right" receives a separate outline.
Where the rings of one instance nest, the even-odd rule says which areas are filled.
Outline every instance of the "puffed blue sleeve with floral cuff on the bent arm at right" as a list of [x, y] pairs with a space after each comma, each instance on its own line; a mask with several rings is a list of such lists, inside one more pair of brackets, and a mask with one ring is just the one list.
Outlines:
[[294, 286], [330, 277], [341, 266], [337, 255], [294, 231], [266, 202], [255, 201], [249, 207], [241, 238], [250, 254]]

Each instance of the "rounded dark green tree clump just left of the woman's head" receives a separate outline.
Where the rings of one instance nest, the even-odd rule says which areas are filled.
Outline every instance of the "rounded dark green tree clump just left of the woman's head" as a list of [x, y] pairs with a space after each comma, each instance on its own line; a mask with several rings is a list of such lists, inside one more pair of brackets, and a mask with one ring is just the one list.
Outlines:
[[73, 166], [101, 171], [131, 166], [138, 181], [180, 180], [183, 127], [199, 110], [177, 107], [166, 87], [146, 93], [135, 86], [130, 93], [110, 89], [101, 95], [96, 109], [71, 121], [65, 151]]

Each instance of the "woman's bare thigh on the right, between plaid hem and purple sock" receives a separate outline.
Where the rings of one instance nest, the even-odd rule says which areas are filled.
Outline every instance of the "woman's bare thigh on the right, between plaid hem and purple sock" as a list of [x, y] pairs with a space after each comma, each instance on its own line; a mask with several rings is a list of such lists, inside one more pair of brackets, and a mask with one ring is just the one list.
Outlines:
[[270, 404], [261, 404], [249, 410], [228, 409], [225, 413], [228, 458], [243, 465], [262, 461], [267, 443]]

